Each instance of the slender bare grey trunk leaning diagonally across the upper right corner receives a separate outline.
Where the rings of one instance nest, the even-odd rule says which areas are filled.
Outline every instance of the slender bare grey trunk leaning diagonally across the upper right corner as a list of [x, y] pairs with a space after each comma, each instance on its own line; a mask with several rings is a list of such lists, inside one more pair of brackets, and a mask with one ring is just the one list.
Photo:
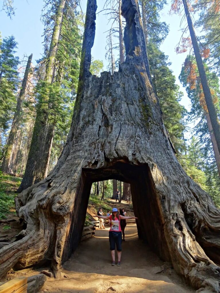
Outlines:
[[185, 9], [188, 27], [189, 27], [189, 33], [190, 33], [191, 40], [192, 40], [192, 46], [193, 46], [194, 54], [196, 57], [196, 63], [197, 63], [198, 71], [199, 71], [199, 76], [201, 79], [202, 89], [203, 89], [203, 93], [205, 96], [205, 101], [206, 101], [207, 109], [209, 112], [209, 117], [210, 117], [212, 129], [213, 129], [213, 133], [215, 136], [216, 144], [217, 144], [217, 147], [218, 147], [218, 150], [220, 153], [220, 123], [219, 123], [219, 119], [218, 119], [218, 116], [216, 113], [215, 105], [213, 103], [213, 99], [211, 96], [211, 91], [210, 91], [209, 84], [207, 81], [202, 57], [201, 57], [201, 54], [199, 51], [199, 45], [198, 45], [196, 34], [194, 31], [194, 26], [192, 23], [192, 18], [191, 18], [190, 12], [189, 12], [189, 4], [188, 4], [187, 0], [183, 0], [183, 5], [184, 5], [184, 9]]

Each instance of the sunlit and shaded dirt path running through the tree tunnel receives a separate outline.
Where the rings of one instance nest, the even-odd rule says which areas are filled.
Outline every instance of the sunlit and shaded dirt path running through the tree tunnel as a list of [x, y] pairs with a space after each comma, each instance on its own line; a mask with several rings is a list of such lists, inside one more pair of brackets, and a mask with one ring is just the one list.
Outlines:
[[83, 241], [64, 264], [63, 272], [69, 278], [48, 278], [42, 292], [195, 292], [138, 239], [135, 224], [126, 227], [121, 267], [111, 266], [108, 232], [109, 229], [96, 230], [93, 238]]

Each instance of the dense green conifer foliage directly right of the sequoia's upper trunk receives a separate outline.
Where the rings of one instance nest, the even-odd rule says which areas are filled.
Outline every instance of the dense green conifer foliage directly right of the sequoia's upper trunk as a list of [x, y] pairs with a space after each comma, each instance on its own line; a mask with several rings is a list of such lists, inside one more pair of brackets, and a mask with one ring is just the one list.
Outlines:
[[175, 149], [177, 152], [182, 151], [185, 149], [183, 141], [185, 125], [183, 120], [187, 112], [179, 103], [182, 92], [179, 91], [179, 86], [175, 84], [175, 76], [168, 67], [168, 56], [161, 52], [152, 41], [148, 42], [147, 49], [153, 86], [163, 112], [164, 124]]

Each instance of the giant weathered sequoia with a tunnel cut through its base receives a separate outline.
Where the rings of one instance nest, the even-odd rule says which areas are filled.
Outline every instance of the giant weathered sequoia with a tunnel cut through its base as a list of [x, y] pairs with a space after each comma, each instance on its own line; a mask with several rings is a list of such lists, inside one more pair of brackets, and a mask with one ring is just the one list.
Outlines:
[[67, 144], [50, 175], [16, 198], [26, 229], [1, 249], [0, 275], [51, 260], [56, 276], [78, 246], [92, 182], [131, 184], [138, 236], [195, 288], [219, 292], [220, 211], [189, 178], [167, 137], [148, 79], [137, 0], [123, 0], [126, 61], [89, 72], [96, 0], [88, 0], [75, 110]]

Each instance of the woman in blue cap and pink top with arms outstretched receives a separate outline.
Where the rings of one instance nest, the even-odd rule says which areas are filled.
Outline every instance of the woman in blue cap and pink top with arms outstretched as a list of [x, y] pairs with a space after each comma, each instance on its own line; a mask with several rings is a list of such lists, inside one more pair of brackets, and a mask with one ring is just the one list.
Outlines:
[[137, 217], [126, 217], [119, 215], [118, 209], [114, 207], [112, 209], [112, 215], [110, 216], [98, 216], [101, 219], [110, 219], [110, 230], [109, 230], [109, 242], [110, 242], [110, 250], [111, 250], [111, 265], [115, 265], [115, 245], [117, 248], [118, 254], [118, 263], [117, 266], [121, 265], [121, 243], [122, 243], [122, 233], [121, 233], [121, 225], [120, 220], [126, 219], [137, 219]]

